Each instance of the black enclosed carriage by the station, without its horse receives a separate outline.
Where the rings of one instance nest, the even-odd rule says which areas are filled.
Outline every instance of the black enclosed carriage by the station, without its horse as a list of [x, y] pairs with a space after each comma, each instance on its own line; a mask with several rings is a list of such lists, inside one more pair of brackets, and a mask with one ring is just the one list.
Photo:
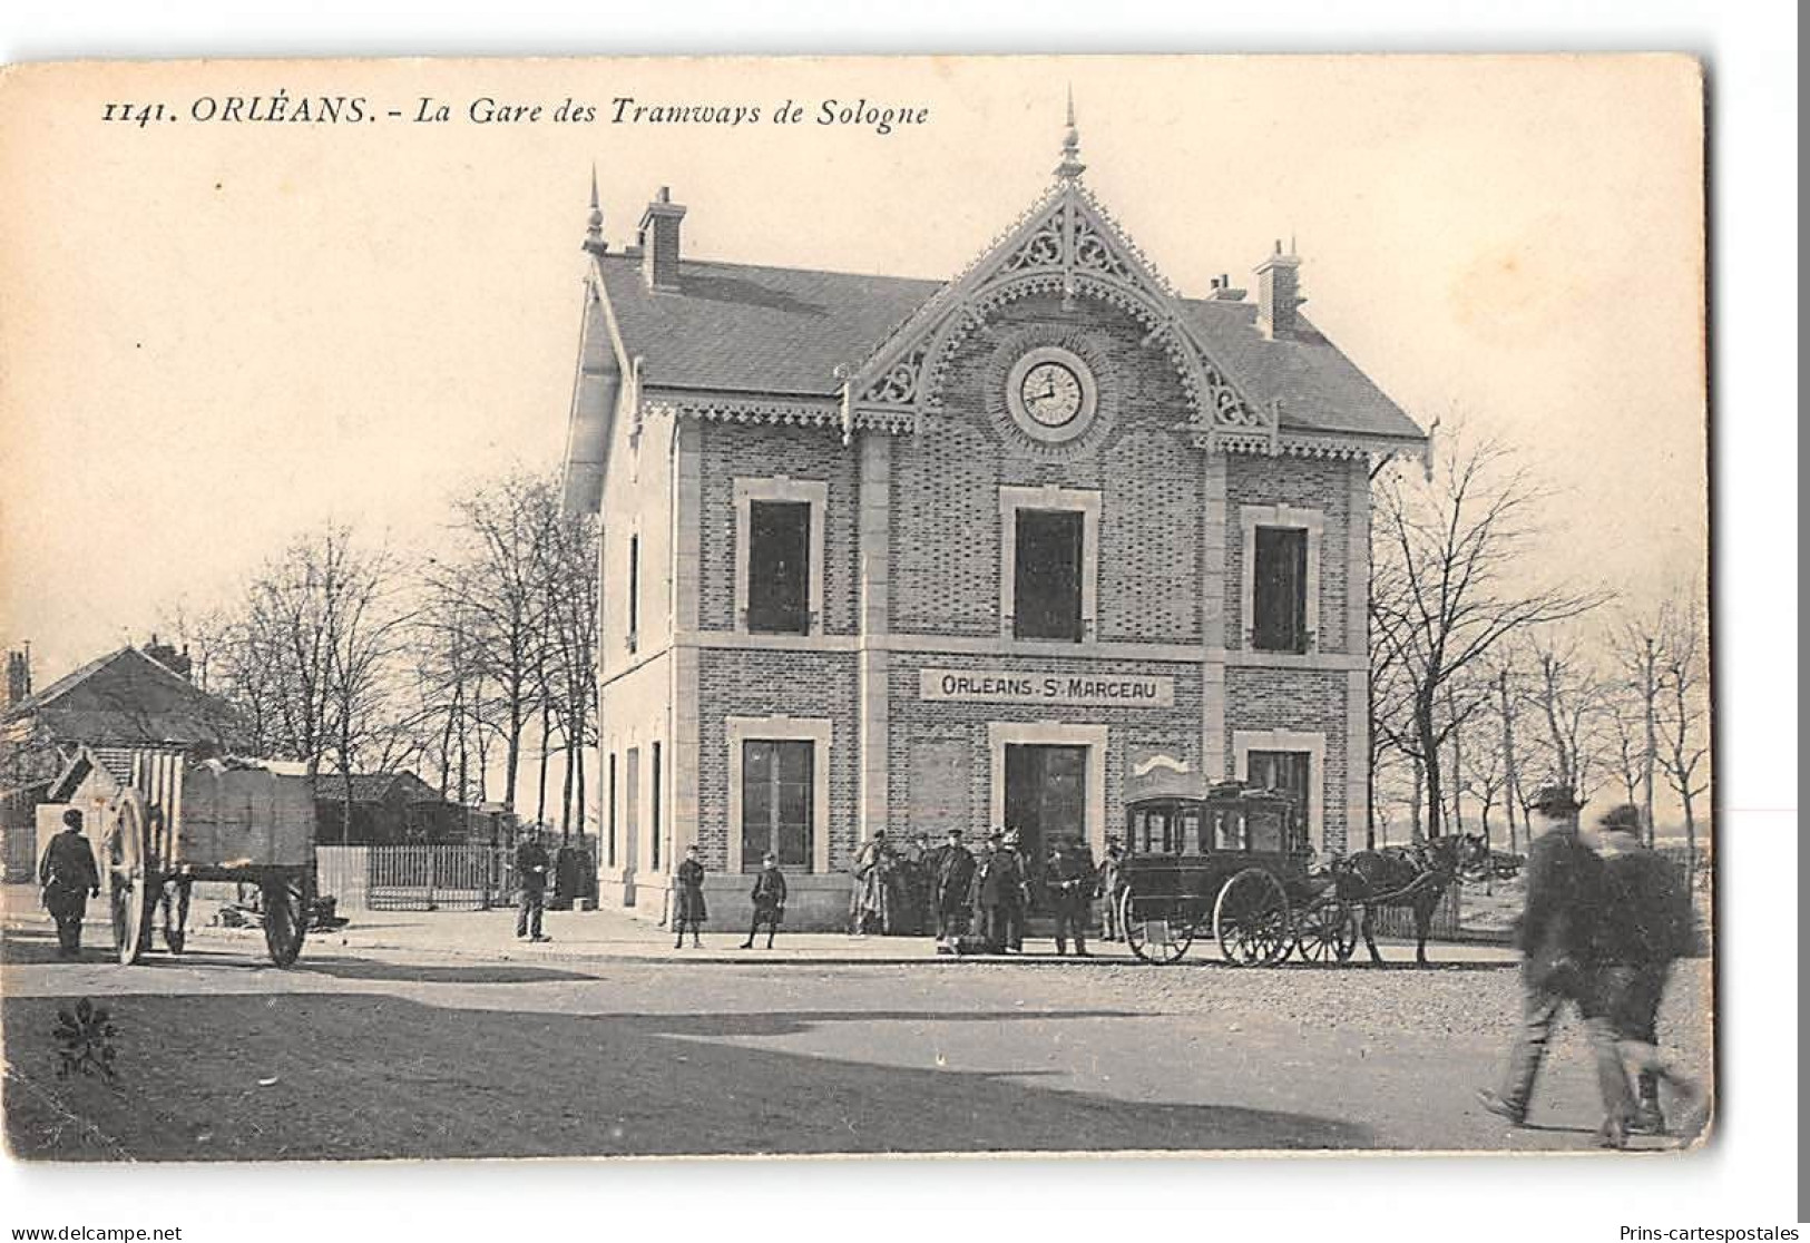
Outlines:
[[1296, 952], [1343, 963], [1356, 948], [1352, 908], [1330, 876], [1310, 874], [1314, 852], [1287, 794], [1222, 782], [1205, 798], [1137, 800], [1126, 849], [1119, 917], [1144, 963], [1178, 963], [1207, 932], [1236, 966]]

